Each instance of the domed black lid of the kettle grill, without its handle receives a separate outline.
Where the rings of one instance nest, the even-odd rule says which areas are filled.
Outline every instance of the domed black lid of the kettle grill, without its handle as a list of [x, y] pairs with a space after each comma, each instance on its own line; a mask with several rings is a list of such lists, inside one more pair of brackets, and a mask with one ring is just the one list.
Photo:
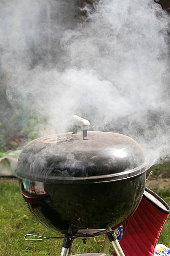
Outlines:
[[52, 183], [102, 182], [127, 179], [146, 170], [139, 144], [108, 132], [54, 134], [23, 148], [15, 173], [18, 177]]

